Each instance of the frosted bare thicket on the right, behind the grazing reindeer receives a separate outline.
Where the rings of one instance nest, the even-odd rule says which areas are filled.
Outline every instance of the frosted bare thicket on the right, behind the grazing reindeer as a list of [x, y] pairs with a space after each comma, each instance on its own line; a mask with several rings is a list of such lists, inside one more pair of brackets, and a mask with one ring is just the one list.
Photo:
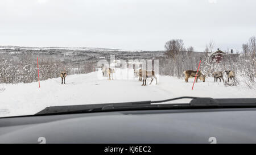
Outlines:
[[[184, 77], [184, 70], [197, 70], [199, 61], [201, 60], [200, 69], [207, 77], [211, 77], [213, 72], [232, 70], [236, 73], [234, 81], [228, 82], [228, 77], [224, 73], [225, 86], [239, 86], [241, 83], [249, 88], [253, 88], [256, 76], [255, 49], [256, 39], [251, 37], [249, 42], [242, 45], [243, 54], [234, 57], [232, 54], [225, 55], [223, 60], [216, 62], [212, 60], [214, 43], [210, 41], [205, 46], [205, 51], [201, 53], [193, 52], [193, 48], [189, 47], [184, 50], [182, 40], [170, 40], [166, 43], [166, 58], [159, 60], [159, 73], [165, 76]], [[181, 49], [183, 49], [181, 51]], [[194, 54], [193, 54], [194, 53]], [[209, 79], [210, 80], [210, 79]]]

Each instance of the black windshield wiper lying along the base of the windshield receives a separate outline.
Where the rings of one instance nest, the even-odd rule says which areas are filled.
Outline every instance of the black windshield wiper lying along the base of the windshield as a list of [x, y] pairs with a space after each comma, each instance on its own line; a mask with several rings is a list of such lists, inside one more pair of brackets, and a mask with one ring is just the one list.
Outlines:
[[[189, 103], [165, 103], [172, 100], [192, 99]], [[256, 107], [256, 98], [199, 98], [199, 97], [179, 97], [166, 100], [147, 100], [140, 102], [105, 103], [105, 104], [84, 104], [75, 106], [53, 106], [47, 107], [35, 115], [54, 114], [75, 114], [84, 112], [118, 111], [118, 110], [143, 110], [143, 109], [178, 109], [178, 108], [221, 108], [221, 107]]]

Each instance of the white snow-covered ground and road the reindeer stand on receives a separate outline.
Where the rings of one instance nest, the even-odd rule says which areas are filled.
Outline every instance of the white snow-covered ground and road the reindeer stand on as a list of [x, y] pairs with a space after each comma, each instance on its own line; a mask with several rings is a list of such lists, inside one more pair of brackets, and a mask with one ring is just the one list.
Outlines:
[[[61, 78], [52, 78], [40, 81], [40, 88], [38, 82], [0, 84], [0, 117], [32, 115], [48, 106], [162, 100], [181, 96], [255, 98], [256, 94], [255, 89], [225, 87], [222, 82], [214, 83], [210, 77], [205, 82], [199, 80], [195, 83], [192, 91], [192, 78], [185, 83], [184, 79], [160, 76], [158, 85], [153, 81], [152, 85], [141, 86], [138, 78], [118, 78], [123, 76], [120, 73], [114, 73], [114, 80], [111, 81], [102, 78], [102, 72], [67, 76], [65, 85], [61, 85]], [[133, 76], [133, 72], [128, 74]], [[147, 84], [149, 82], [150, 79]]]

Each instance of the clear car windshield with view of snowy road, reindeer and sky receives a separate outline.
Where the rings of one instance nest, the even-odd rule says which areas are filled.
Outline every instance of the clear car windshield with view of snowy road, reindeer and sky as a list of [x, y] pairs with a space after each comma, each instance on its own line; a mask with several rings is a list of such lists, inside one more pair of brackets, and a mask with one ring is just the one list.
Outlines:
[[50, 106], [255, 98], [255, 6], [1, 0], [0, 118]]

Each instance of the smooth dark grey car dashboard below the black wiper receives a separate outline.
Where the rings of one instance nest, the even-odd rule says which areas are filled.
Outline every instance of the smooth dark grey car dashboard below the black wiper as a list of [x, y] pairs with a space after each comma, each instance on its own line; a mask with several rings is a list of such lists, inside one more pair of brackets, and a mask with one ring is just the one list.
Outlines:
[[0, 119], [0, 143], [256, 143], [256, 108], [138, 110]]

